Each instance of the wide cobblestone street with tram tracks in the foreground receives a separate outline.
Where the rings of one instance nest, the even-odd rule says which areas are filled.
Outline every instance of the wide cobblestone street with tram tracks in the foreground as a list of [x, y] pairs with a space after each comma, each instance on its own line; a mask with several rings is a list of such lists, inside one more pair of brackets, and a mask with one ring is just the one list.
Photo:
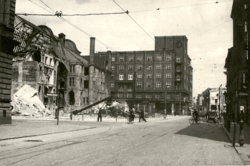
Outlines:
[[243, 165], [220, 125], [189, 118], [0, 141], [0, 165]]

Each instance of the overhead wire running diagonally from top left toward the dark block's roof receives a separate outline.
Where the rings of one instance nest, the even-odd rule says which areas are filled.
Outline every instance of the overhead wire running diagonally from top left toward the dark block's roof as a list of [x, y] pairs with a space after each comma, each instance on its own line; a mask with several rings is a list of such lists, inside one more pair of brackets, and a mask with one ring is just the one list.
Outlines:
[[[43, 8], [44, 10], [48, 11], [49, 13], [51, 14], [55, 14], [56, 11], [54, 11], [51, 7], [49, 7], [48, 5], [46, 5], [43, 1], [41, 1], [45, 6], [47, 6], [51, 11], [47, 10], [46, 8], [40, 6], [39, 4], [33, 2], [32, 0], [29, 0], [30, 2], [32, 2], [33, 4]], [[79, 28], [78, 26], [74, 25], [73, 23], [71, 23], [70, 21], [68, 21], [67, 19], [63, 18], [63, 17], [59, 17], [61, 20], [63, 20], [64, 22], [68, 23], [69, 25], [71, 25], [72, 27], [76, 28], [78, 31], [84, 33], [85, 35], [89, 36], [89, 37], [92, 37], [92, 35], [90, 35], [89, 33], [85, 32], [84, 30], [82, 30], [81, 28]], [[111, 50], [114, 50], [116, 51], [115, 49], [113, 49], [112, 47], [108, 46], [107, 44], [103, 43], [102, 41], [96, 39], [97, 42], [101, 43], [102, 45], [104, 45], [106, 48], [109, 48]]]

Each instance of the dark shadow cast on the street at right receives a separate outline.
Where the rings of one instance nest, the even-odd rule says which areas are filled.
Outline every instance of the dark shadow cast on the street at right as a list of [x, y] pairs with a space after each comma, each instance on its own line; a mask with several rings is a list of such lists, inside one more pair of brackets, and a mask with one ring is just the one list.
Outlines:
[[202, 119], [201, 123], [191, 124], [175, 134], [230, 143], [230, 139], [221, 125], [206, 122], [205, 119]]

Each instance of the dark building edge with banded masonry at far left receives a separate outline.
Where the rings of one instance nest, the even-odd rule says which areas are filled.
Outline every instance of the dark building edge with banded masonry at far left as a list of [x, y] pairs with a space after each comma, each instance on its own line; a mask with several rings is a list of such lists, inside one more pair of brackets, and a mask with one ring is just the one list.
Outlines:
[[11, 123], [10, 91], [16, 0], [0, 0], [0, 124]]

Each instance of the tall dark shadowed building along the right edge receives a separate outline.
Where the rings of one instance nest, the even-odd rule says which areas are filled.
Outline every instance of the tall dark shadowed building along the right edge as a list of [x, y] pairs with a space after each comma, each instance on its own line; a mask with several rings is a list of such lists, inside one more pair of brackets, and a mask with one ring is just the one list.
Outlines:
[[[250, 1], [234, 0], [231, 18], [233, 19], [233, 47], [228, 50], [225, 68], [227, 69], [227, 112], [238, 120], [240, 109], [244, 110], [250, 123], [249, 93], [245, 89], [246, 73], [249, 69]], [[249, 78], [248, 78], [249, 79]], [[249, 86], [249, 83], [248, 85]]]

